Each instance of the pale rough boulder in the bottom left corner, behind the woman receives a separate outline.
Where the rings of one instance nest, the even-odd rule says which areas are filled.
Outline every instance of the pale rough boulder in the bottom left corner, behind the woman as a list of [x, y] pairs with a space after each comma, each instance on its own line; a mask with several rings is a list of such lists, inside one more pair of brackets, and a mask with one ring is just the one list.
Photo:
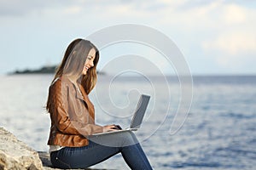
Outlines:
[[36, 150], [0, 127], [0, 169], [41, 170], [43, 165]]

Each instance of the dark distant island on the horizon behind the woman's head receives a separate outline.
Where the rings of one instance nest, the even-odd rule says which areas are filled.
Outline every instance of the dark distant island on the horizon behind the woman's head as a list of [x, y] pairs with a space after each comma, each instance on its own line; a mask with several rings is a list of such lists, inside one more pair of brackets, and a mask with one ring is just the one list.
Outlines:
[[[16, 74], [54, 74], [55, 70], [57, 68], [57, 65], [52, 66], [43, 66], [36, 70], [26, 69], [23, 71], [13, 71], [9, 73], [10, 75], [16, 75]], [[104, 72], [97, 71], [97, 74], [105, 75]]]

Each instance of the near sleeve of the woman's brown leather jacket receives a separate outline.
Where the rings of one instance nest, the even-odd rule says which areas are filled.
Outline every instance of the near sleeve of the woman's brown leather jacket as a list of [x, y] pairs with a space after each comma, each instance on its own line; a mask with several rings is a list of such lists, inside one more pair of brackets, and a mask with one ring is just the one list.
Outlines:
[[50, 115], [55, 126], [62, 133], [81, 134], [88, 136], [93, 133], [102, 133], [103, 127], [96, 124], [89, 124], [71, 120], [67, 113], [67, 90], [62, 87], [61, 80], [56, 81], [49, 90], [51, 96]]

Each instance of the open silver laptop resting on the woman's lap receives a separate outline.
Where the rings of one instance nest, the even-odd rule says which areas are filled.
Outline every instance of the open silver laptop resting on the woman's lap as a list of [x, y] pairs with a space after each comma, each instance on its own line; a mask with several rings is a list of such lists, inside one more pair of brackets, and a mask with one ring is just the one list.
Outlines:
[[94, 133], [92, 136], [100, 135], [100, 134], [108, 134], [108, 133], [120, 133], [120, 132], [125, 132], [125, 131], [137, 131], [139, 127], [141, 127], [141, 124], [143, 122], [143, 117], [145, 115], [145, 112], [148, 107], [148, 102], [149, 102], [150, 96], [141, 94], [140, 99], [137, 103], [137, 108], [133, 114], [133, 117], [131, 119], [131, 125], [130, 127], [127, 127], [122, 130], [118, 131], [111, 131], [111, 132], [105, 132], [105, 133]]

